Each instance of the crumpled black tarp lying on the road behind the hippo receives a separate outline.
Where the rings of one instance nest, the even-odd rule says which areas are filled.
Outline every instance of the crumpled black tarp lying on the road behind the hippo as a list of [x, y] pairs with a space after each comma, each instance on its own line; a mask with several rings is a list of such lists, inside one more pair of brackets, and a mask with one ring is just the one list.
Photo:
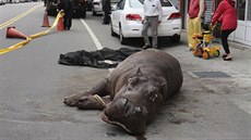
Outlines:
[[63, 65], [79, 65], [79, 66], [91, 66], [96, 68], [111, 68], [116, 67], [118, 63], [109, 64], [104, 62], [105, 60], [110, 61], [123, 61], [129, 55], [141, 51], [140, 49], [120, 48], [119, 50], [112, 50], [104, 48], [97, 51], [74, 51], [65, 54], [60, 54], [59, 64]]

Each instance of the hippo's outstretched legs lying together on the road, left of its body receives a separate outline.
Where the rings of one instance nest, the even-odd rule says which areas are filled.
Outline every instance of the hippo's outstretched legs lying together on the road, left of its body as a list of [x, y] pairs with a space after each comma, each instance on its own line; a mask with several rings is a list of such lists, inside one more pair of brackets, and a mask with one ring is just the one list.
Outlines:
[[[108, 81], [103, 79], [96, 86], [91, 88], [88, 91], [76, 93], [70, 97], [64, 98], [63, 103], [69, 106], [77, 106], [79, 109], [104, 109], [104, 105], [100, 104], [100, 101], [97, 100], [97, 97], [105, 97], [109, 92], [107, 91]], [[94, 97], [97, 94], [96, 97]], [[103, 98], [101, 98], [103, 99]]]

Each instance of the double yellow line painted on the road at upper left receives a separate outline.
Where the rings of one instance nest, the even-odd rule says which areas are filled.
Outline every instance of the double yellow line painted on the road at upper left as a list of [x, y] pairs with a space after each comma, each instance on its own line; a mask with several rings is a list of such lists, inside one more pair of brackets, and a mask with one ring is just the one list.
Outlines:
[[13, 18], [7, 21], [7, 22], [4, 22], [3, 24], [0, 24], [0, 29], [2, 29], [2, 28], [4, 28], [4, 27], [7, 27], [7, 26], [13, 24], [13, 23], [16, 22], [17, 20], [20, 20], [20, 18], [26, 16], [27, 14], [32, 13], [34, 10], [36, 10], [37, 8], [39, 8], [39, 7], [41, 7], [41, 5], [43, 5], [43, 4], [35, 5], [35, 7], [33, 7], [32, 9], [27, 10], [26, 12], [24, 12], [24, 13], [17, 15], [17, 16], [15, 16], [15, 17], [13, 17]]

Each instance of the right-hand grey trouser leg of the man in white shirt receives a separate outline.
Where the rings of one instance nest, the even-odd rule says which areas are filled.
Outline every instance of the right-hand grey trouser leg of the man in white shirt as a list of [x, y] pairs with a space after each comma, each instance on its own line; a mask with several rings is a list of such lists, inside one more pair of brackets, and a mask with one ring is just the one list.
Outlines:
[[151, 29], [153, 34], [153, 48], [156, 49], [158, 47], [158, 16], [152, 17]]

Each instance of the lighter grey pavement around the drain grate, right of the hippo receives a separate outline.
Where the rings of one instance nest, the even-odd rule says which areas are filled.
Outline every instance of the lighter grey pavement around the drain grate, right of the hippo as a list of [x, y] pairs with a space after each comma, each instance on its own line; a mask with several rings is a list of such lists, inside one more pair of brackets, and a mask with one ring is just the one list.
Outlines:
[[[251, 47], [229, 41], [232, 61], [223, 61], [222, 44], [213, 43], [220, 47], [220, 56], [203, 60], [193, 56], [188, 50], [186, 31], [181, 35], [181, 42], [178, 47], [168, 48], [167, 52], [180, 61], [184, 75], [192, 77], [192, 82], [198, 80], [203, 87], [223, 97], [227, 94], [226, 98], [251, 115]], [[198, 73], [213, 77], [203, 78]], [[229, 77], [224, 77], [224, 74]]]

